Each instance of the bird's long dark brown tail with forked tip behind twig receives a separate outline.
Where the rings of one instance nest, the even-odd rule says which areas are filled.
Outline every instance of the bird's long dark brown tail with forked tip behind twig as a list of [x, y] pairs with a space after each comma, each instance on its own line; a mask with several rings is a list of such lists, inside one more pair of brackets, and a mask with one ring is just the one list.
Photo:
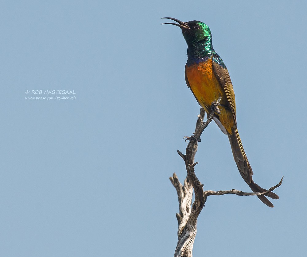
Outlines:
[[[249, 185], [253, 192], [266, 192], [266, 189], [261, 188], [252, 179], [253, 170], [251, 169], [251, 165], [247, 160], [237, 128], [234, 127], [232, 129], [232, 134], [230, 135], [229, 133], [227, 133], [227, 135], [229, 138], [235, 163], [238, 166], [242, 178]], [[273, 192], [269, 192], [267, 196], [273, 199], [279, 199], [278, 195], [274, 194]], [[274, 205], [265, 196], [258, 196], [258, 198], [267, 206], [274, 207]]]

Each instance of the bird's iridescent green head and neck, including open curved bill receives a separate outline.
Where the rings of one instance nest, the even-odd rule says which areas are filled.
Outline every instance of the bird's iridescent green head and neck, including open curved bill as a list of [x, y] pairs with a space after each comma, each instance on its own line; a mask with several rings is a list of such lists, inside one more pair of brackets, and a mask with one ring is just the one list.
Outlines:
[[214, 49], [212, 47], [212, 36], [208, 25], [200, 21], [181, 22], [175, 18], [165, 17], [162, 19], [170, 19], [177, 23], [163, 23], [172, 24], [181, 28], [182, 34], [188, 45], [188, 52], [200, 53], [212, 53]]

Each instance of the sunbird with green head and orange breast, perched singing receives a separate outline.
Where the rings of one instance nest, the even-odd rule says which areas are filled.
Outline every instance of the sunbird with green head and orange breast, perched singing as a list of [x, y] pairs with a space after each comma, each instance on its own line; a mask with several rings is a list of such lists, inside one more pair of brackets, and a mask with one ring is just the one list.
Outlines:
[[[266, 192], [253, 181], [253, 170], [244, 152], [237, 129], [235, 93], [232, 82], [222, 58], [212, 46], [212, 34], [208, 25], [200, 21], [181, 22], [178, 19], [164, 17], [177, 23], [166, 22], [181, 28], [188, 45], [188, 60], [185, 65], [185, 81], [194, 97], [207, 114], [212, 112], [212, 102], [221, 98], [222, 110], [215, 112], [213, 120], [228, 136], [232, 154], [243, 180], [253, 192]], [[267, 194], [272, 199], [279, 199], [273, 192]], [[274, 205], [264, 195], [258, 198], [267, 206]]]

